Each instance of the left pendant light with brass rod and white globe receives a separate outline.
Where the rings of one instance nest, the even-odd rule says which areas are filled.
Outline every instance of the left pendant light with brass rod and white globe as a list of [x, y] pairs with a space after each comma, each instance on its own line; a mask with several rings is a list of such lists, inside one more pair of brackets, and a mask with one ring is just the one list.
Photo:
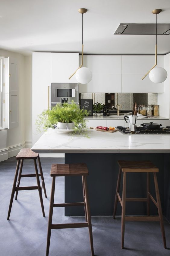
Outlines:
[[[87, 67], [82, 67], [83, 66], [83, 14], [87, 12], [87, 9], [85, 8], [80, 8], [78, 9], [78, 12], [82, 14], [82, 51], [81, 51], [81, 65], [76, 69], [76, 71], [71, 75], [76, 76], [76, 79], [79, 83], [81, 84], [87, 84], [91, 81], [92, 79], [92, 73], [90, 69]], [[69, 79], [71, 78], [69, 77]]]

